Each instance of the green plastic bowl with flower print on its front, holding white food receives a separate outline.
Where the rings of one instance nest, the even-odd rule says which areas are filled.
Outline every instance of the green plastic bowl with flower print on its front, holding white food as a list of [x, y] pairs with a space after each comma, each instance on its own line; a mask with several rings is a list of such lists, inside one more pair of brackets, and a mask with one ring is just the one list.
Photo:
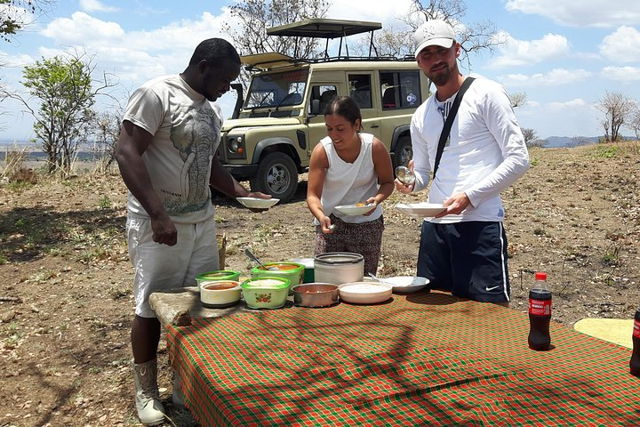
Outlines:
[[241, 288], [250, 309], [279, 309], [286, 302], [290, 286], [288, 278], [260, 276], [244, 280]]

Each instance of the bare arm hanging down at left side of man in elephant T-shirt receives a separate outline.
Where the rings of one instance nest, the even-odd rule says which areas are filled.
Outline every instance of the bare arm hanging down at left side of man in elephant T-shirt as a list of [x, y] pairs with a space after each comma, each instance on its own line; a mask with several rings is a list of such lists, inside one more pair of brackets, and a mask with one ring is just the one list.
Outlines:
[[153, 140], [153, 135], [140, 126], [125, 120], [120, 129], [120, 140], [116, 149], [116, 161], [124, 184], [132, 192], [151, 218], [153, 239], [156, 243], [173, 246], [178, 239], [172, 219], [164, 210], [149, 178], [142, 154]]

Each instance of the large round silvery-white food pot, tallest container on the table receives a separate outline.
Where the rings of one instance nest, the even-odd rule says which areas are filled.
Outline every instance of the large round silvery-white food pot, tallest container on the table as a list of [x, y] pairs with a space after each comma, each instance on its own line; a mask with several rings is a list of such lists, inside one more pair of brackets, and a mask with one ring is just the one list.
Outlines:
[[314, 257], [314, 276], [317, 283], [361, 282], [364, 280], [364, 257], [350, 252], [328, 252]]

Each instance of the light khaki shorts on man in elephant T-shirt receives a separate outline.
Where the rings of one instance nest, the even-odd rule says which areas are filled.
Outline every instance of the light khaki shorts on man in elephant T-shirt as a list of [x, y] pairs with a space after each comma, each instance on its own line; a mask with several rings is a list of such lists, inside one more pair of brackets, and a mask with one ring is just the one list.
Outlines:
[[133, 264], [135, 314], [155, 318], [148, 303], [150, 294], [176, 287], [196, 286], [196, 276], [219, 270], [218, 242], [213, 217], [196, 224], [175, 224], [178, 243], [160, 245], [153, 241], [151, 220], [127, 218], [129, 259]]

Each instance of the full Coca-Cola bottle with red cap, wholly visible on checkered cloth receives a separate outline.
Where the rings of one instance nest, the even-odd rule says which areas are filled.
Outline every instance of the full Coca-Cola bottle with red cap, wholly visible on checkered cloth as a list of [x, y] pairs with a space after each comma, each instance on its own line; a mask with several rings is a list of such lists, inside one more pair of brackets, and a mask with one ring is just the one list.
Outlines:
[[535, 273], [535, 284], [529, 291], [529, 348], [545, 351], [551, 346], [551, 289], [547, 273]]

